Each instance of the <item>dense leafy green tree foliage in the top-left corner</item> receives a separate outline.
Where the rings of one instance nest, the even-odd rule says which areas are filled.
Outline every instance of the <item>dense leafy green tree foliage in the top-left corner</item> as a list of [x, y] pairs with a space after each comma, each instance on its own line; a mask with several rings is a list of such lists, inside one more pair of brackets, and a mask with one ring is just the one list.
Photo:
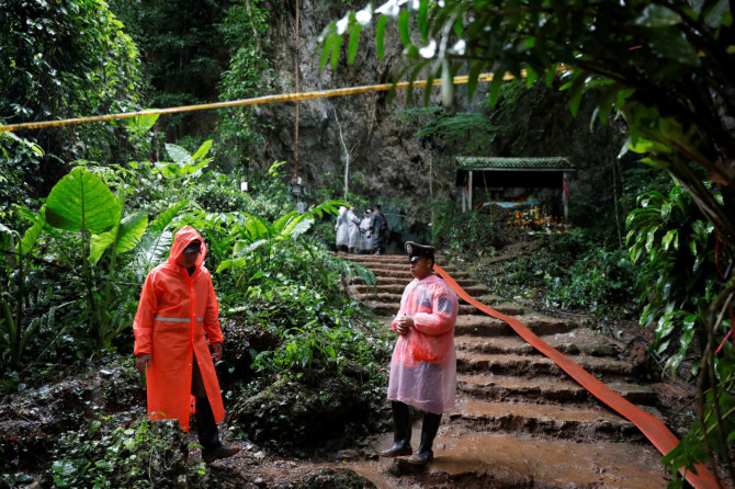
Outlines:
[[[0, 120], [108, 114], [135, 104], [138, 52], [102, 0], [9, 0], [0, 4]], [[108, 126], [87, 125], [42, 132], [37, 143], [61, 159], [114, 160], [124, 158], [113, 151], [117, 136]], [[49, 164], [56, 162], [46, 158]]]

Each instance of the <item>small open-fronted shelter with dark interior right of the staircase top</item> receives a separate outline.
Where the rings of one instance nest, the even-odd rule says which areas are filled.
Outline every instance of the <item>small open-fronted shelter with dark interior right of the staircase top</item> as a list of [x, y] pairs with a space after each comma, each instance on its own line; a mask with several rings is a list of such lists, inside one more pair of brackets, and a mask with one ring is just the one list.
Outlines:
[[567, 179], [576, 171], [566, 157], [455, 157], [462, 212], [493, 218], [504, 209], [533, 207], [569, 219]]

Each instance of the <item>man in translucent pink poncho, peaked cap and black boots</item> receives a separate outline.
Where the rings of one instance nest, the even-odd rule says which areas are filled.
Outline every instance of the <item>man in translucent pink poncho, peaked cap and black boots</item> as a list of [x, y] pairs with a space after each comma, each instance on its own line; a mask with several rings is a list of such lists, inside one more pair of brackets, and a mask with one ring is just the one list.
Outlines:
[[[426, 465], [433, 458], [431, 446], [442, 413], [454, 409], [454, 325], [459, 305], [449, 285], [432, 274], [434, 248], [407, 241], [405, 249], [415, 278], [404, 289], [400, 309], [392, 325], [398, 333], [388, 382], [394, 443], [381, 455], [410, 455], [408, 463]], [[408, 405], [425, 412], [421, 441], [415, 453]]]

